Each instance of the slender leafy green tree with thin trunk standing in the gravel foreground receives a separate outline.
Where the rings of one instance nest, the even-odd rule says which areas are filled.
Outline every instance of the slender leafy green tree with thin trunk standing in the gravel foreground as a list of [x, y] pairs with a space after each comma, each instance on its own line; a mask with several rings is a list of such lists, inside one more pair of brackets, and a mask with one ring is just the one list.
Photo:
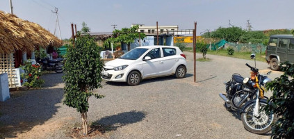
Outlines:
[[93, 38], [89, 35], [79, 36], [75, 46], [70, 46], [65, 55], [65, 100], [63, 104], [76, 108], [81, 114], [83, 133], [87, 135], [87, 112], [89, 97], [104, 96], [91, 92], [101, 88], [101, 72], [104, 64], [100, 58], [100, 51]]

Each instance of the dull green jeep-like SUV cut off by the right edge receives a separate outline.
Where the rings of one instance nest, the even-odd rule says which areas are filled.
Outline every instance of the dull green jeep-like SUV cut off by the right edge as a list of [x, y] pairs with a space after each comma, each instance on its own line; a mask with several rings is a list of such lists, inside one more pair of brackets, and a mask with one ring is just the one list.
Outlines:
[[285, 61], [294, 63], [294, 36], [271, 35], [266, 47], [266, 61], [272, 70], [279, 70], [279, 63]]

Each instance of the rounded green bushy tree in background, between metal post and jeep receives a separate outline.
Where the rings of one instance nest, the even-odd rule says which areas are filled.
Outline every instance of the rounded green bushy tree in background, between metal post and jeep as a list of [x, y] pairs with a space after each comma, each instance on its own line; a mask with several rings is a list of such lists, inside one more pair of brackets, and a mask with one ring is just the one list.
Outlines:
[[240, 37], [245, 33], [242, 28], [230, 27], [222, 28], [219, 27], [217, 30], [211, 33], [211, 38], [220, 38], [227, 40], [228, 42], [239, 42]]

